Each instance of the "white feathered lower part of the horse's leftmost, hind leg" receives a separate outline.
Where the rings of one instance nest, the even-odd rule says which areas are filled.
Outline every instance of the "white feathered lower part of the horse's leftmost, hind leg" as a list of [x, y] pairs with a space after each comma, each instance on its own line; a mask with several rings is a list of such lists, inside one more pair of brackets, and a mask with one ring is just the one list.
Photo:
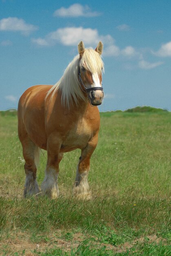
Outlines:
[[26, 180], [24, 185], [24, 197], [38, 194], [39, 187], [36, 179], [33, 178], [32, 171], [26, 171]]

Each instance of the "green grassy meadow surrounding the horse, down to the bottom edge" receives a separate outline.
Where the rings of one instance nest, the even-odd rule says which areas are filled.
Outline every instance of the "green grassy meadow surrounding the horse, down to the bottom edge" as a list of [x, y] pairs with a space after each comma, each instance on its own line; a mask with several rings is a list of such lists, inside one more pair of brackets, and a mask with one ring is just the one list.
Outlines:
[[[0, 112], [0, 255], [171, 255], [171, 112], [104, 112], [91, 157], [92, 199], [74, 198], [80, 150], [60, 163], [57, 200], [22, 198], [16, 111]], [[37, 180], [44, 178], [41, 152]]]

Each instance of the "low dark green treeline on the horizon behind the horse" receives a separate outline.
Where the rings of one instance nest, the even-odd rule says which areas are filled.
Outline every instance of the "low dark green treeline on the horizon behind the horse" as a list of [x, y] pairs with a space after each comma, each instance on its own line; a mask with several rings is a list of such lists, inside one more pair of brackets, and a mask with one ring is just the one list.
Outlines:
[[[109, 111], [107, 111], [109, 112]], [[106, 113], [107, 113], [106, 112]], [[169, 112], [167, 109], [162, 109], [162, 108], [153, 108], [150, 106], [137, 106], [135, 108], [129, 108], [127, 110], [115, 110], [115, 111], [110, 111], [109, 113], [123, 113], [123, 112], [130, 112], [130, 113], [135, 113], [135, 112], [152, 112], [152, 113], [158, 113], [158, 112]], [[9, 109], [9, 110], [4, 110], [0, 111], [1, 116], [16, 116], [17, 115], [17, 110], [16, 109]]]

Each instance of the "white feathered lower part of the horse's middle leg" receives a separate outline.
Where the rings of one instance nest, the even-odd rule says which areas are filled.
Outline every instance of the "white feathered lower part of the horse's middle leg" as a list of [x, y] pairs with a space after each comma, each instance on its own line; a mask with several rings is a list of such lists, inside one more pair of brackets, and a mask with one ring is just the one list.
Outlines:
[[48, 195], [49, 198], [55, 199], [59, 195], [58, 189], [58, 173], [53, 168], [49, 168], [49, 170], [45, 170], [45, 177], [42, 182], [42, 193]]

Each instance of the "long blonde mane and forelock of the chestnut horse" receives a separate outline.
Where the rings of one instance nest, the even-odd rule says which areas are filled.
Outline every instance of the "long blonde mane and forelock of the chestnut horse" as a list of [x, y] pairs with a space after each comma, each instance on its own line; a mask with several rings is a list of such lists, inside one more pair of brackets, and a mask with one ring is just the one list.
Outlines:
[[[47, 97], [51, 94], [51, 99], [56, 94], [58, 90], [62, 92], [61, 104], [62, 106], [70, 107], [70, 104], [73, 104], [73, 101], [78, 106], [79, 99], [86, 101], [84, 94], [78, 80], [78, 63], [80, 55], [78, 54], [68, 67], [64, 71], [61, 79], [53, 85], [53, 87], [47, 93]], [[101, 59], [100, 54], [93, 49], [85, 49], [82, 58], [80, 59], [80, 68], [89, 70], [91, 73], [97, 72], [101, 74], [104, 63]]]

